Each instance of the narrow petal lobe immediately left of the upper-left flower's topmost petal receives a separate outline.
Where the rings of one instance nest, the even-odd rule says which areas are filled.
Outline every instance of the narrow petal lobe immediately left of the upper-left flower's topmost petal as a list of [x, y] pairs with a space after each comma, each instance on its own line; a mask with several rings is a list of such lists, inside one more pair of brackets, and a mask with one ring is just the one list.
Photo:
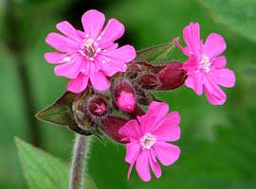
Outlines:
[[68, 22], [61, 22], [57, 24], [56, 27], [69, 39], [72, 39], [78, 43], [82, 42], [82, 38], [78, 35], [77, 30]]

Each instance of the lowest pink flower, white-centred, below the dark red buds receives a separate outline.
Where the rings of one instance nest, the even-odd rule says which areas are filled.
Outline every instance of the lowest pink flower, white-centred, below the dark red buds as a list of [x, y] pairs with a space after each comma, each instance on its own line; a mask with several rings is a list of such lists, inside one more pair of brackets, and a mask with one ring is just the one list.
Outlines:
[[161, 176], [156, 158], [166, 166], [179, 158], [179, 147], [166, 142], [179, 139], [180, 116], [178, 112], [167, 114], [168, 111], [166, 103], [152, 102], [146, 114], [137, 116], [137, 120], [131, 120], [119, 129], [119, 134], [125, 136], [122, 141], [128, 142], [125, 157], [125, 162], [130, 163], [128, 179], [135, 163], [141, 180], [149, 181], [149, 165], [156, 178]]

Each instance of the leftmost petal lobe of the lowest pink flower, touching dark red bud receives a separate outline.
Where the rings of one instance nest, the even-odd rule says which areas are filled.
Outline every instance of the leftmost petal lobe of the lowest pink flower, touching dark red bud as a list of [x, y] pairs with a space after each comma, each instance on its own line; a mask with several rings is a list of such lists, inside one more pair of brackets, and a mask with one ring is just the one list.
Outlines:
[[141, 137], [141, 132], [136, 119], [133, 119], [126, 123], [121, 129], [119, 129], [119, 134], [123, 136], [129, 136], [131, 138], [139, 140]]

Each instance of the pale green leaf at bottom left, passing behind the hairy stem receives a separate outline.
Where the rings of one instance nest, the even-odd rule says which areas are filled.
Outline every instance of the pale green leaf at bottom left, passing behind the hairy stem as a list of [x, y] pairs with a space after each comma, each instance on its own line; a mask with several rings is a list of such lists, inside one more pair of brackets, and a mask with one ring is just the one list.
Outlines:
[[[69, 165], [21, 139], [15, 139], [19, 159], [31, 189], [68, 188]], [[86, 189], [96, 189], [90, 176], [84, 176]]]

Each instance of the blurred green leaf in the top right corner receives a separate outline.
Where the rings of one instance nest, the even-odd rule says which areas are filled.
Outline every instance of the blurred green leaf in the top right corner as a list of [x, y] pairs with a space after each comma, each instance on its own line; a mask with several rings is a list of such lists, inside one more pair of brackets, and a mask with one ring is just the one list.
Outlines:
[[256, 42], [255, 0], [200, 0], [210, 10], [215, 22], [229, 26], [232, 30]]

